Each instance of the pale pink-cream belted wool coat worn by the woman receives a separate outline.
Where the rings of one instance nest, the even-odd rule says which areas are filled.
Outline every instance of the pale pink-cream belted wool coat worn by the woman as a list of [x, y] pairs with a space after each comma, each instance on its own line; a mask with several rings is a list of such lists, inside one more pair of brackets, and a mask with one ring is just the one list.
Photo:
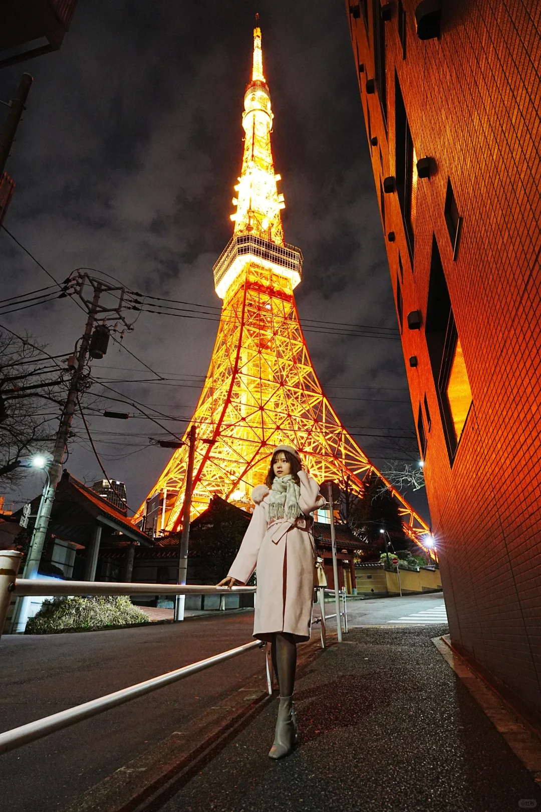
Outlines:
[[[299, 471], [298, 479], [298, 507], [308, 517], [325, 499], [306, 471]], [[314, 541], [303, 529], [311, 521], [298, 516], [269, 524], [268, 494], [265, 485], [252, 491], [254, 512], [228, 576], [245, 584], [257, 569], [254, 637], [268, 641], [275, 632], [287, 632], [302, 642], [310, 638], [314, 599]]]

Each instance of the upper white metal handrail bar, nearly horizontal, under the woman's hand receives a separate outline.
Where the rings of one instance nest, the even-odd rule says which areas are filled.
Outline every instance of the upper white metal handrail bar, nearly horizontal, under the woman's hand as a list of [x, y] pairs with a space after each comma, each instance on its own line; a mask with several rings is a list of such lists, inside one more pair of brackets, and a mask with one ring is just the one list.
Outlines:
[[210, 586], [180, 584], [132, 584], [130, 581], [50, 581], [45, 578], [17, 578], [10, 590], [15, 597], [26, 595], [226, 595], [255, 592], [255, 586]]

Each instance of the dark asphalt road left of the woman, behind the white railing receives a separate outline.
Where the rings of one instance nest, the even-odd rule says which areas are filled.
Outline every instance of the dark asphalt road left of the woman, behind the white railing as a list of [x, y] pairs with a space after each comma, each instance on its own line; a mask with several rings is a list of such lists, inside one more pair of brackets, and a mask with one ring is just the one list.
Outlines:
[[[2, 731], [252, 639], [253, 611], [109, 632], [4, 636]], [[264, 669], [259, 650], [0, 756], [0, 810], [49, 812]]]

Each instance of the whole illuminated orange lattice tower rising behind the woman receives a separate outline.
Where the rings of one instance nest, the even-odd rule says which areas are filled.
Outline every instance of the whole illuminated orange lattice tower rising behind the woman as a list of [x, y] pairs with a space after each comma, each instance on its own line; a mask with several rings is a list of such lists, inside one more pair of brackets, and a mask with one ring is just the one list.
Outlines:
[[[250, 506], [251, 489], [263, 482], [279, 443], [302, 451], [319, 482], [343, 482], [349, 476], [360, 492], [367, 473], [379, 474], [325, 397], [298, 320], [293, 291], [301, 281], [303, 256], [284, 242], [280, 213], [285, 203], [277, 189], [280, 175], [274, 172], [273, 112], [260, 28], [254, 30], [243, 128], [243, 168], [233, 198], [236, 212], [231, 214], [234, 234], [213, 269], [216, 292], [223, 300], [221, 321], [192, 418], [198, 438], [193, 515], [215, 494], [239, 507]], [[182, 447], [134, 520], [147, 510], [158, 531], [178, 529], [186, 471], [187, 447]], [[419, 542], [427, 525], [401, 495], [396, 498], [406, 532]]]

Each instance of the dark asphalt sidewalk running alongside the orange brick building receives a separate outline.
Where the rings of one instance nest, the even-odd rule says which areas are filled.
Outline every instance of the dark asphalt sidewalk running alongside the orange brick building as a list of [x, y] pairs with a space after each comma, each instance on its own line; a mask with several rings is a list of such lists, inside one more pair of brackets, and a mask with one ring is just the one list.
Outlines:
[[302, 745], [294, 754], [281, 762], [267, 756], [273, 702], [176, 793], [170, 787], [168, 799], [140, 809], [506, 812], [541, 806], [533, 773], [432, 642], [446, 631], [434, 625], [352, 630], [298, 680]]

